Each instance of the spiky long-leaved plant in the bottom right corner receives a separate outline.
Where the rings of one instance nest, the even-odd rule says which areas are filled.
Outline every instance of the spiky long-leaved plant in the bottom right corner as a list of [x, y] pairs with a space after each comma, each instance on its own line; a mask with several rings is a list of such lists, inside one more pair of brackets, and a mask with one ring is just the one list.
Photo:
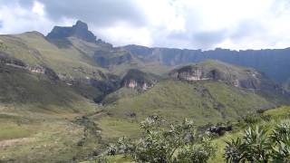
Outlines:
[[243, 139], [227, 141], [227, 162], [290, 162], [290, 124], [277, 125], [271, 134], [259, 126], [245, 131]]

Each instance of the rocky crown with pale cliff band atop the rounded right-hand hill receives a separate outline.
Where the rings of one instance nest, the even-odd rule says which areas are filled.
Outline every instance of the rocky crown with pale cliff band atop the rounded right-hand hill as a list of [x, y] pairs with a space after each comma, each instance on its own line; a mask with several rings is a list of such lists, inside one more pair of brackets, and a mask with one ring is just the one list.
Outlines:
[[246, 69], [233, 66], [225, 62], [208, 61], [182, 67], [169, 73], [171, 78], [181, 81], [219, 81], [226, 82], [235, 87], [260, 90], [263, 87], [275, 88], [273, 82], [256, 72], [254, 69]]

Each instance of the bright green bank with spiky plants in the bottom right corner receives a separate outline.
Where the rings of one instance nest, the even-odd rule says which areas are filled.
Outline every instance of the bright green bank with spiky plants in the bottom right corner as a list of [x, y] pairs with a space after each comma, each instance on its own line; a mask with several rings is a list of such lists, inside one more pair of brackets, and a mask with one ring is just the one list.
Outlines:
[[232, 133], [216, 140], [219, 151], [215, 159], [218, 162], [225, 159], [232, 162], [288, 162], [289, 111], [289, 107], [280, 107], [247, 116], [245, 122], [237, 123], [239, 127]]

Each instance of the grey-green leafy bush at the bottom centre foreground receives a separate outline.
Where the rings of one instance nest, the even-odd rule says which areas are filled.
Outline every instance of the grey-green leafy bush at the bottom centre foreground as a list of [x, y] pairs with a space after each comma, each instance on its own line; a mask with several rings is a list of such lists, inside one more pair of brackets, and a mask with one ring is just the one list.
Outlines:
[[117, 150], [121, 153], [127, 151], [137, 162], [203, 163], [215, 154], [215, 147], [210, 139], [198, 135], [191, 120], [166, 127], [160, 117], [152, 116], [141, 122], [141, 129], [144, 132], [140, 140], [132, 142], [123, 139], [117, 142], [126, 149]]

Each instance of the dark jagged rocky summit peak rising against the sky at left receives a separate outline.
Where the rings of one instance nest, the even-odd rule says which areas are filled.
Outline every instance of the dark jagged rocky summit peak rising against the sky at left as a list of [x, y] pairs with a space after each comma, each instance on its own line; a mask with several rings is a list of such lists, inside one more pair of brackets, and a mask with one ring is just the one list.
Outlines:
[[96, 43], [96, 36], [89, 31], [88, 24], [82, 21], [77, 21], [71, 27], [54, 26], [53, 31], [46, 36], [48, 39], [63, 39], [67, 37], [76, 37], [83, 41]]

